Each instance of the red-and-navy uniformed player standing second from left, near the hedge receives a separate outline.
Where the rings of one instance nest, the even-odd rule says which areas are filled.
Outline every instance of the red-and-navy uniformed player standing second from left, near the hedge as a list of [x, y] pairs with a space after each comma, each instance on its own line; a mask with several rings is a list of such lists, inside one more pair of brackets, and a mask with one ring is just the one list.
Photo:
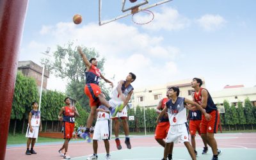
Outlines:
[[[63, 127], [64, 127], [64, 144], [60, 148], [59, 152], [61, 156], [64, 157], [64, 159], [70, 159], [70, 156], [68, 156], [68, 142], [72, 138], [72, 134], [74, 132], [75, 127], [75, 116], [79, 116], [79, 113], [76, 109], [76, 107], [71, 106], [69, 97], [65, 98], [64, 100], [65, 104], [67, 106], [62, 107], [60, 109], [60, 113], [58, 115], [58, 118], [60, 121], [63, 121]], [[63, 117], [62, 117], [63, 115]]]

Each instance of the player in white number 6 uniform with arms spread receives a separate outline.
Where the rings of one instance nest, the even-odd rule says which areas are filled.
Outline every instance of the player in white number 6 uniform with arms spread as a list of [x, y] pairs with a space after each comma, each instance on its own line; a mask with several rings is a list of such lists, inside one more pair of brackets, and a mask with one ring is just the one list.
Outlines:
[[[207, 114], [205, 112], [205, 109], [203, 109], [199, 104], [196, 102], [193, 102], [192, 100], [186, 99], [184, 97], [178, 97], [180, 90], [178, 87], [171, 87], [168, 89], [169, 96], [171, 97], [168, 102], [166, 102], [166, 105], [164, 109], [161, 111], [159, 116], [157, 117], [157, 122], [159, 122], [159, 118], [161, 118], [166, 111], [168, 111], [169, 116], [169, 122], [170, 122], [170, 128], [166, 137], [166, 145], [164, 147], [164, 157], [162, 160], [167, 159], [167, 154], [170, 150], [170, 145], [172, 142], [183, 142], [186, 148], [188, 149], [188, 152], [193, 160], [196, 159], [195, 152], [193, 147], [189, 143], [189, 131], [188, 131], [188, 123], [187, 123], [187, 117], [186, 117], [186, 108], [189, 110], [191, 109], [198, 109], [200, 110], [207, 120], [211, 119], [211, 115]], [[192, 104], [195, 106], [194, 108], [191, 108], [189, 106], [185, 106], [185, 103]]]

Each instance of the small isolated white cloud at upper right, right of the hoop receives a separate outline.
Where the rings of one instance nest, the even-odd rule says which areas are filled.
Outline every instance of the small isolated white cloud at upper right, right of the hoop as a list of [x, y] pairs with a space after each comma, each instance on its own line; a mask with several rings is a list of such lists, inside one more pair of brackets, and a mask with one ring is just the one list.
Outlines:
[[221, 17], [220, 15], [203, 15], [200, 19], [196, 20], [199, 26], [203, 28], [205, 31], [215, 31], [227, 23], [227, 21]]

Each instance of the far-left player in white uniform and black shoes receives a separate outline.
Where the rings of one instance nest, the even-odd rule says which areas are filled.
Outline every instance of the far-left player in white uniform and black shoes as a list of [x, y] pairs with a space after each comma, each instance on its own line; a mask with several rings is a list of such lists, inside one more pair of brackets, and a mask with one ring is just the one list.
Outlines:
[[[42, 123], [40, 120], [40, 111], [38, 111], [37, 102], [32, 102], [33, 109], [29, 112], [28, 115], [28, 129], [26, 132], [27, 141], [27, 150], [26, 155], [36, 154], [34, 148], [36, 138], [38, 137], [38, 131], [40, 126], [40, 131], [42, 131]], [[31, 149], [29, 150], [29, 145], [31, 143]]]

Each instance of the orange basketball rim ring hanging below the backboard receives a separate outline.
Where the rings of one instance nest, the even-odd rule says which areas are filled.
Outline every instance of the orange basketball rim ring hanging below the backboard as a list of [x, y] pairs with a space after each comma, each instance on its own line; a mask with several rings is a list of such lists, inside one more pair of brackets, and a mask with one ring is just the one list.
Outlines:
[[150, 23], [155, 17], [154, 13], [151, 12], [150, 10], [139, 11], [139, 7], [132, 8], [131, 13], [132, 13], [132, 22], [140, 25]]

